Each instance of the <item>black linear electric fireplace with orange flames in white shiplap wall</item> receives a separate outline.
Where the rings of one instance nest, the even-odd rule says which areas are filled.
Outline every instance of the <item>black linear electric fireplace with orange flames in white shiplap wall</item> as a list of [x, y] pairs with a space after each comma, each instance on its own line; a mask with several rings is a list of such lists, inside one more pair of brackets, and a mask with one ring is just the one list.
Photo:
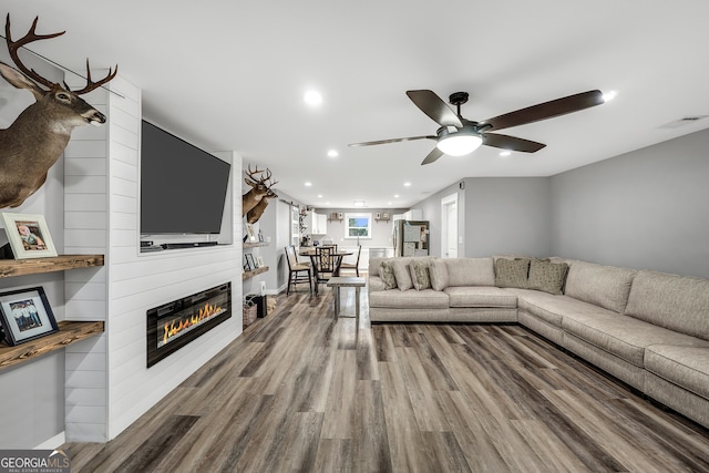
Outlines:
[[147, 368], [232, 317], [232, 282], [147, 311]]

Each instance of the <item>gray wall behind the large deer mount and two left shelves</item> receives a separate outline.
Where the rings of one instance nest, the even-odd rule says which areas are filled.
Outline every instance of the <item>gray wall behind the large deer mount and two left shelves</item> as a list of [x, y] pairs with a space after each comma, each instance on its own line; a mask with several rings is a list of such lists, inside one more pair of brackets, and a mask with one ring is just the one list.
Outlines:
[[[7, 51], [0, 61], [12, 64]], [[31, 54], [24, 61], [41, 75], [61, 82], [63, 72]], [[34, 102], [27, 90], [14, 89], [0, 78], [0, 128], [8, 127], [22, 110]], [[59, 254], [64, 253], [64, 160], [48, 173], [47, 182], [20, 207], [1, 212], [44, 215]], [[0, 246], [7, 243], [0, 230]], [[41, 286], [58, 321], [64, 320], [64, 274], [49, 273], [0, 280], [0, 291]], [[64, 431], [64, 351], [0, 371], [0, 399], [4, 407], [0, 449], [34, 448]], [[24, 407], [25, 409], [21, 409]]]

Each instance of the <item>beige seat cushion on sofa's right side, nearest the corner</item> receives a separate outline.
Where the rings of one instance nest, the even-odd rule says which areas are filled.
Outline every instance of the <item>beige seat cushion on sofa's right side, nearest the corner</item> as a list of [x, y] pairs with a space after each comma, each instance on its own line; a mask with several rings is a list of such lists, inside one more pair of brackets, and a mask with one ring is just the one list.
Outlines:
[[545, 322], [562, 327], [562, 319], [565, 313], [597, 313], [600, 309], [588, 302], [576, 300], [568, 296], [554, 296], [548, 292], [532, 289], [506, 289], [517, 296], [517, 307], [520, 310], [538, 317]]

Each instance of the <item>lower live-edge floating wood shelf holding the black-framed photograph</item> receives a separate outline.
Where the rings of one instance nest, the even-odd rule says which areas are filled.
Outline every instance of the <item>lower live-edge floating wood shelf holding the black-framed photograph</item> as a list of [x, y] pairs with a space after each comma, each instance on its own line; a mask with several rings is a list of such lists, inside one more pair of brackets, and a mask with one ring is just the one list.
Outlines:
[[51, 351], [61, 350], [68, 345], [93, 337], [96, 333], [103, 332], [103, 321], [78, 322], [65, 320], [59, 322], [59, 331], [56, 333], [51, 333], [16, 347], [0, 345], [0, 370], [41, 357]]

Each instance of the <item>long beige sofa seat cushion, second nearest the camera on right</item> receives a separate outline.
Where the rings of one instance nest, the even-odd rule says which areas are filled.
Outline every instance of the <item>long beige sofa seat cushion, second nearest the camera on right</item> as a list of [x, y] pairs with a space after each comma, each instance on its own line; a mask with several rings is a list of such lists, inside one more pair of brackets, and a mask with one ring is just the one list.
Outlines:
[[646, 348], [653, 345], [668, 343], [693, 347], [705, 342], [698, 338], [657, 327], [633, 317], [619, 316], [608, 310], [598, 313], [565, 313], [562, 328], [566, 332], [640, 368], [645, 367]]

